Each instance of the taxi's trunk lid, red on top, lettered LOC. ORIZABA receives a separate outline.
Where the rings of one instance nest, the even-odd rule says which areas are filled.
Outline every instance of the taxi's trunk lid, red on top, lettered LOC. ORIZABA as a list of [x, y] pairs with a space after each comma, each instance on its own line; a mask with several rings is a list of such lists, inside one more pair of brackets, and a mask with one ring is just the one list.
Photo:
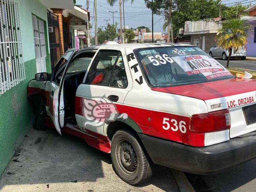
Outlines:
[[[244, 113], [244, 107], [256, 102], [254, 79], [233, 78], [152, 90], [204, 100], [209, 112], [228, 109], [231, 118], [230, 138], [256, 130], [256, 123], [248, 123], [247, 114]], [[255, 108], [247, 110], [248, 113], [254, 113]]]

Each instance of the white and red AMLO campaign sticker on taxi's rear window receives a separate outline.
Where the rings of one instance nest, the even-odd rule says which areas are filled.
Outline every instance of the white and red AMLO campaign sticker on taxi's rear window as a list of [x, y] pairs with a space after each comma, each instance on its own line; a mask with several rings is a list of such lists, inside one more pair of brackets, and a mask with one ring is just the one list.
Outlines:
[[172, 59], [188, 74], [202, 73], [207, 79], [232, 75], [215, 59], [206, 55], [178, 56]]

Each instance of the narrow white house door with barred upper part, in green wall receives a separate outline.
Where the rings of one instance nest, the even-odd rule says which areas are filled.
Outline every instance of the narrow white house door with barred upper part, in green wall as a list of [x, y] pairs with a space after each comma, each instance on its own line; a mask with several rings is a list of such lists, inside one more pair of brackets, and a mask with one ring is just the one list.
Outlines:
[[36, 72], [46, 72], [46, 48], [45, 48], [45, 35], [44, 35], [44, 22], [32, 15], [34, 44], [36, 54]]

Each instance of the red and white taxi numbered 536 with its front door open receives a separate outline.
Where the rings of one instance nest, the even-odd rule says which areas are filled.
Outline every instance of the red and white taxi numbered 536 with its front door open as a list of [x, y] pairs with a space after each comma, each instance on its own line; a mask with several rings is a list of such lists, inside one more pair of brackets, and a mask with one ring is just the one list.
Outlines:
[[34, 127], [54, 127], [111, 153], [129, 184], [154, 164], [213, 174], [256, 157], [256, 80], [237, 79], [192, 45], [68, 50], [28, 85]]

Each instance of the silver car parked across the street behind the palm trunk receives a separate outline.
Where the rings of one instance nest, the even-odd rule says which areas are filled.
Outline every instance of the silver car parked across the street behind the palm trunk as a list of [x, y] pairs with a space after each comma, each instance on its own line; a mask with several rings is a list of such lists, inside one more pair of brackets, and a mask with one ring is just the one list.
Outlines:
[[[212, 47], [209, 51], [209, 55], [211, 57], [222, 57], [223, 60], [228, 60], [228, 55], [229, 52], [226, 49], [223, 49], [221, 47], [217, 47], [216, 45], [214, 45], [214, 47]], [[238, 51], [232, 52], [231, 57], [240, 57], [241, 60], [245, 60], [246, 59], [246, 46], [242, 46]]]

